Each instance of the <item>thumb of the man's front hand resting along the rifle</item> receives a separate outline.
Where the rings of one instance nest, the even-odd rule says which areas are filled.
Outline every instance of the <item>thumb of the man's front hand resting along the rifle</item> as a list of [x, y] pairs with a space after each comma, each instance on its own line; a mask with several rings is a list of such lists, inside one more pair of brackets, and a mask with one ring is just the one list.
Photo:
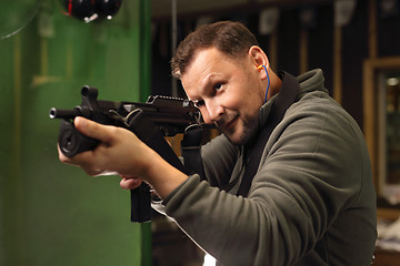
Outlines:
[[73, 124], [76, 129], [83, 135], [90, 136], [104, 143], [111, 141], [111, 134], [109, 130], [110, 126], [97, 123], [82, 116], [77, 116], [73, 121]]

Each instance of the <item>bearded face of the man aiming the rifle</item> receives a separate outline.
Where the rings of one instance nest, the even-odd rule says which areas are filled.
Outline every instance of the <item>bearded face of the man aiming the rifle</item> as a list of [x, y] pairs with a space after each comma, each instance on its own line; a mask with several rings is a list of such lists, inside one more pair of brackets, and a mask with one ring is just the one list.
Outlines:
[[214, 123], [233, 144], [250, 139], [258, 126], [264, 91], [249, 54], [232, 59], [216, 48], [200, 50], [181, 81], [206, 123]]

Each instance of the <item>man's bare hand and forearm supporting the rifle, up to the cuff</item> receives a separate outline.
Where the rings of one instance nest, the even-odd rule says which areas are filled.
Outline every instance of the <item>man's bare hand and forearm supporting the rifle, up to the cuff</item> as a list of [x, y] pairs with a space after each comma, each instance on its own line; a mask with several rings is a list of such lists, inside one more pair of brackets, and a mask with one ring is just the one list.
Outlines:
[[74, 126], [100, 143], [93, 151], [82, 152], [73, 157], [64, 156], [59, 149], [62, 163], [79, 166], [91, 176], [120, 175], [120, 186], [127, 190], [132, 190], [146, 181], [161, 197], [187, 180], [187, 175], [168, 164], [126, 129], [102, 125], [80, 116], [76, 117]]

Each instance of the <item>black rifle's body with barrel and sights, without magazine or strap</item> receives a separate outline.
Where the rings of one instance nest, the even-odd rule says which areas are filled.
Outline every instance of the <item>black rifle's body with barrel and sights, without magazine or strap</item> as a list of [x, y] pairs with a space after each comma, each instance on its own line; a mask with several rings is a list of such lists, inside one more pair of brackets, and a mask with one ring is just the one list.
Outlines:
[[[78, 153], [90, 151], [98, 142], [81, 135], [73, 126], [76, 116], [83, 116], [106, 125], [116, 125], [132, 131], [129, 120], [140, 111], [147, 120], [161, 131], [163, 136], [183, 133], [191, 125], [199, 123], [200, 113], [193, 103], [174, 98], [150, 96], [146, 103], [113, 102], [97, 100], [98, 91], [84, 86], [81, 91], [82, 104], [72, 110], [50, 109], [51, 119], [62, 119], [59, 145], [62, 153], [71, 157]], [[137, 125], [141, 126], [141, 125]], [[140, 136], [139, 136], [140, 139]], [[142, 140], [143, 141], [143, 140]]]

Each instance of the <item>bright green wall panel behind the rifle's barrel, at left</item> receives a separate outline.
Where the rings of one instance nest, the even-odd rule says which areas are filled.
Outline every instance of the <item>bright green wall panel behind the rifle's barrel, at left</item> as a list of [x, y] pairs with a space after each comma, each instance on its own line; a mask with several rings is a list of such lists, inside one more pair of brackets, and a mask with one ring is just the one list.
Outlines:
[[126, 0], [113, 20], [86, 24], [58, 0], [1, 0], [0, 265], [150, 264], [149, 225], [129, 221], [129, 192], [61, 164], [48, 116], [79, 105], [86, 84], [99, 99], [147, 98], [149, 4]]

